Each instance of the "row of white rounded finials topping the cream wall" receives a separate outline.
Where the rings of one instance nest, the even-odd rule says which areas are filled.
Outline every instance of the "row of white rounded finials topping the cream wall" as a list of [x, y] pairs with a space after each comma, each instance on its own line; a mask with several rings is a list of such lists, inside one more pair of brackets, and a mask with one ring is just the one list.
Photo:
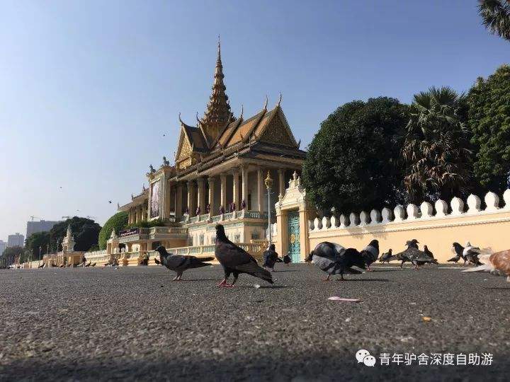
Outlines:
[[[395, 206], [393, 210], [385, 207], [379, 212], [372, 209], [370, 214], [365, 211], [357, 214], [341, 214], [339, 218], [324, 216], [322, 219], [315, 218], [309, 221], [310, 232], [328, 231], [331, 229], [346, 229], [363, 226], [378, 226], [390, 223], [406, 223], [424, 219], [443, 219], [446, 217], [472, 216], [475, 214], [494, 214], [496, 212], [510, 212], [510, 189], [503, 194], [504, 206], [499, 205], [499, 196], [494, 192], [487, 192], [484, 197], [485, 209], [481, 209], [481, 200], [477, 195], [467, 197], [467, 210], [463, 199], [453, 197], [450, 201], [450, 210], [448, 212], [448, 203], [444, 200], [436, 200], [434, 206], [429, 202], [423, 202], [418, 206], [408, 204], [407, 207], [401, 205]], [[435, 210], [435, 213], [434, 213]]]

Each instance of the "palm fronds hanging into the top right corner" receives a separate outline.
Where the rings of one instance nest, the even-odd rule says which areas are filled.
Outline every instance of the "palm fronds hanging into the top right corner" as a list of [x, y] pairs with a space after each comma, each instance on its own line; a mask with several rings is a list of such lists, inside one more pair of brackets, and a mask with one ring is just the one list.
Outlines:
[[478, 0], [478, 13], [490, 33], [510, 40], [510, 0]]

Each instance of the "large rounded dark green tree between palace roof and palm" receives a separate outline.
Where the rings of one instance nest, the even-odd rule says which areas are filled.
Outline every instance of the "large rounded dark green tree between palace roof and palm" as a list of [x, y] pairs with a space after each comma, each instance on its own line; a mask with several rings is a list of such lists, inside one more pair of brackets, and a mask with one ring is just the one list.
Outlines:
[[319, 209], [348, 213], [399, 202], [405, 110], [395, 98], [355, 100], [321, 123], [302, 169]]

